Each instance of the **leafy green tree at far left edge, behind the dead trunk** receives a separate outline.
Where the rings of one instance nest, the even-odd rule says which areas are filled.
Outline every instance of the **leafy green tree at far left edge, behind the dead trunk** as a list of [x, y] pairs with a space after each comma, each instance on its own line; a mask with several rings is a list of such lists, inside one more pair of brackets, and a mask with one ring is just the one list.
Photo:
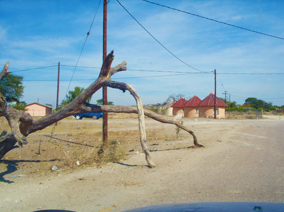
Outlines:
[[7, 102], [18, 102], [23, 97], [23, 76], [8, 74], [0, 80], [0, 92], [5, 96]]

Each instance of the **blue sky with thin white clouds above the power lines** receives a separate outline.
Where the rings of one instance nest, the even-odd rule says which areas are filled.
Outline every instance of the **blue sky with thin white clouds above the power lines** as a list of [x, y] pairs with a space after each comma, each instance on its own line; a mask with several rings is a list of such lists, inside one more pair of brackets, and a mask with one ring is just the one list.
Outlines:
[[[166, 48], [202, 71], [217, 72], [217, 96], [224, 91], [243, 104], [256, 97], [273, 105], [284, 105], [284, 40], [227, 26], [142, 0], [119, 0]], [[170, 7], [255, 31], [284, 37], [284, 1], [279, 0], [153, 0]], [[0, 61], [10, 61], [10, 71], [57, 65], [76, 65], [99, 0], [1, 0]], [[101, 2], [79, 66], [102, 65]], [[213, 73], [196, 71], [166, 51], [119, 5], [108, 3], [107, 52], [114, 50], [113, 66], [127, 61], [128, 69], [198, 72], [175, 73], [128, 70], [112, 78], [131, 84], [144, 104], [162, 103], [170, 94], [205, 98], [214, 92]], [[74, 67], [61, 66], [59, 101], [67, 92]], [[77, 68], [75, 86], [88, 87], [99, 69]], [[227, 73], [227, 74], [221, 74]], [[282, 73], [279, 75], [233, 75], [230, 73]], [[56, 104], [57, 67], [15, 72], [24, 76], [27, 103]], [[160, 76], [147, 78], [127, 78]], [[120, 79], [118, 79], [120, 78]], [[89, 79], [80, 80], [78, 79]], [[93, 79], [93, 80], [92, 80]], [[38, 80], [38, 81], [30, 81]], [[54, 81], [40, 81], [54, 80]], [[92, 103], [102, 98], [98, 91]], [[115, 105], [135, 105], [129, 92], [108, 89]]]

